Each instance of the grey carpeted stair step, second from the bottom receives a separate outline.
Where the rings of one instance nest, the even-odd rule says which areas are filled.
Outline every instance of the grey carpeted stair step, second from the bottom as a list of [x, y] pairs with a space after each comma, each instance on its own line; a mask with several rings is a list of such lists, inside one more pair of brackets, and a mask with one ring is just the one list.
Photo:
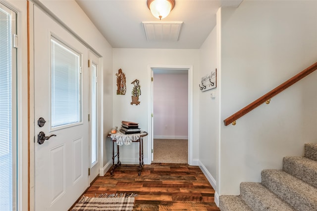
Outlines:
[[240, 196], [252, 211], [295, 211], [261, 183], [242, 182]]

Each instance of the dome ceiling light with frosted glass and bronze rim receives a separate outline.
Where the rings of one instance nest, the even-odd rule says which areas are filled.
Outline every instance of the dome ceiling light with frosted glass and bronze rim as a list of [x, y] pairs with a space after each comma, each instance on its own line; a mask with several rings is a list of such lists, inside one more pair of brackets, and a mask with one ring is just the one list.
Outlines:
[[175, 0], [147, 0], [148, 7], [154, 17], [165, 18], [175, 6]]

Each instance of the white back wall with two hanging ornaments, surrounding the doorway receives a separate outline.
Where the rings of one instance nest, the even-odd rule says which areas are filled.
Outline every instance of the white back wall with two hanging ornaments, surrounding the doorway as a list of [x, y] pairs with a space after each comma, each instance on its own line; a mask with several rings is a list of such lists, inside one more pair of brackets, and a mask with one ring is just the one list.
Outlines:
[[[139, 123], [139, 126], [147, 130], [148, 128], [148, 65], [192, 65], [194, 84], [198, 84], [199, 70], [199, 50], [198, 49], [113, 49], [113, 86], [115, 86], [115, 73], [121, 68], [126, 76], [127, 91], [125, 95], [116, 95], [116, 88], [113, 89], [113, 126], [120, 126], [122, 120]], [[135, 79], [140, 81], [142, 94], [139, 97], [139, 105], [130, 105], [131, 102], [131, 82]], [[150, 80], [150, 79], [149, 79]], [[198, 117], [198, 90], [194, 88], [193, 94], [193, 116]], [[198, 118], [194, 118], [194, 148], [193, 158], [198, 159]], [[110, 130], [105, 127], [105, 130]], [[147, 158], [147, 147], [150, 139], [144, 138], [145, 161]], [[121, 153], [122, 152], [122, 153]], [[138, 145], [123, 146], [120, 148], [120, 160], [122, 163], [138, 163]]]

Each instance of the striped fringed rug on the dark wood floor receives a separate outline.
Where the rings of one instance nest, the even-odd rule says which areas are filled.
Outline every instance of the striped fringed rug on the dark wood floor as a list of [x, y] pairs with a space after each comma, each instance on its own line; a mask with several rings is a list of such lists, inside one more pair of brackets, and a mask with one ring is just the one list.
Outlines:
[[71, 211], [132, 211], [136, 194], [102, 194], [98, 198], [83, 196]]

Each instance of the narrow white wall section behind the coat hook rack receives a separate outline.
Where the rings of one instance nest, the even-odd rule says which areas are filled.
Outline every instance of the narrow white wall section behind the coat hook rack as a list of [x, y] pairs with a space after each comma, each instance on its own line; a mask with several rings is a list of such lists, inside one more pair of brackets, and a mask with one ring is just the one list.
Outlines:
[[[199, 77], [210, 74], [217, 68], [216, 55], [216, 27], [200, 48], [200, 72]], [[217, 69], [217, 75], [218, 74]], [[195, 84], [196, 85], [196, 84]], [[198, 86], [198, 85], [197, 85]], [[199, 160], [205, 168], [205, 174], [211, 185], [216, 189], [215, 180], [217, 175], [217, 141], [219, 136], [219, 77], [217, 86], [212, 90], [199, 90]], [[195, 88], [198, 88], [195, 86]], [[211, 92], [215, 98], [211, 99]]]

